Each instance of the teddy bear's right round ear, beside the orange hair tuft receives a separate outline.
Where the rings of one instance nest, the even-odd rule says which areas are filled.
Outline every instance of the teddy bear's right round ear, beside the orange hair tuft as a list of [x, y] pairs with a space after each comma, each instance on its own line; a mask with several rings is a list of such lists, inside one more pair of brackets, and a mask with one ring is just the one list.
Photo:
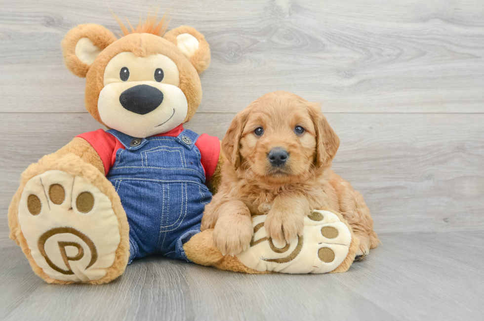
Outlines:
[[195, 28], [181, 26], [168, 31], [164, 39], [176, 44], [200, 74], [210, 64], [210, 47]]

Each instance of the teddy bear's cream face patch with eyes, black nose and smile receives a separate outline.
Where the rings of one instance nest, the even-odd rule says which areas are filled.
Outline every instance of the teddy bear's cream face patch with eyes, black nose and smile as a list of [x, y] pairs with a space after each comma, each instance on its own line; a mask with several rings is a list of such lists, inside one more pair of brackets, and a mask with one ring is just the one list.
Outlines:
[[98, 100], [101, 120], [133, 137], [167, 132], [187, 116], [188, 102], [179, 84], [178, 68], [170, 58], [121, 52], [104, 71]]

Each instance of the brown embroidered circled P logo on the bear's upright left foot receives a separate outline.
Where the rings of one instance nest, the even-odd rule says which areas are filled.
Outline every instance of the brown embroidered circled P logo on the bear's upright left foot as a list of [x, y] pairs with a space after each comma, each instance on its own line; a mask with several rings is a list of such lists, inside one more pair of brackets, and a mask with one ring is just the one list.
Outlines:
[[[55, 244], [56, 242], [55, 236], [59, 234], [64, 234], [64, 235], [67, 234], [69, 235], [69, 239], [81, 239], [82, 243], [87, 245], [87, 248], [84, 249], [82, 243], [78, 241], [57, 241], [59, 252], [54, 254], [52, 253], [53, 252], [52, 245]], [[45, 244], [52, 237], [54, 237], [54, 239], [49, 241], [49, 244], [51, 244], [49, 253], [51, 254], [52, 257], [49, 258], [49, 255], [47, 255], [47, 251], [45, 249]], [[66, 240], [65, 237], [63, 237], [62, 239]], [[88, 269], [89, 267], [91, 267], [97, 260], [97, 250], [96, 250], [96, 247], [94, 246], [94, 243], [85, 234], [79, 232], [78, 230], [72, 227], [58, 227], [58, 228], [53, 228], [51, 230], [48, 230], [47, 232], [45, 232], [40, 236], [38, 241], [38, 246], [39, 246], [40, 254], [45, 258], [45, 261], [47, 262], [47, 264], [53, 270], [65, 275], [74, 274], [69, 262], [81, 260], [84, 257], [84, 255], [86, 255], [87, 251], [85, 250], [88, 250], [87, 253], [90, 253], [90, 256], [91, 256], [91, 259], [87, 264], [87, 266], [85, 267], [85, 269]], [[74, 255], [72, 254], [69, 255], [67, 247], [76, 248], [75, 250], [77, 250], [77, 253]], [[60, 258], [62, 259], [62, 262], [64, 263], [64, 265], [67, 267], [67, 270], [58, 266], [58, 264], [60, 263], [60, 262], [57, 262], [57, 261], [60, 261], [58, 254], [60, 254]], [[55, 264], [54, 261], [57, 264]]]

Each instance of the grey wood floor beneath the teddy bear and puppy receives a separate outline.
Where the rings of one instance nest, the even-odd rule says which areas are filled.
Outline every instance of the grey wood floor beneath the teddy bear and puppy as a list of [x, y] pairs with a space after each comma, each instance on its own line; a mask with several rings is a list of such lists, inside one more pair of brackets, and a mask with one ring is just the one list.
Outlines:
[[342, 274], [244, 275], [152, 256], [101, 286], [46, 284], [20, 248], [7, 247], [0, 260], [0, 315], [39, 321], [482, 320], [483, 232], [382, 241]]

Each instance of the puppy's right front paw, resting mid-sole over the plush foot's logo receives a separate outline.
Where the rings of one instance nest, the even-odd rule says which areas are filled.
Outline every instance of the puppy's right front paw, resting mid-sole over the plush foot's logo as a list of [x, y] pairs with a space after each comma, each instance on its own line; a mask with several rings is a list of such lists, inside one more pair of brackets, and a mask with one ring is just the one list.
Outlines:
[[289, 243], [301, 235], [304, 228], [304, 218], [294, 214], [269, 213], [264, 223], [267, 237], [279, 244]]

